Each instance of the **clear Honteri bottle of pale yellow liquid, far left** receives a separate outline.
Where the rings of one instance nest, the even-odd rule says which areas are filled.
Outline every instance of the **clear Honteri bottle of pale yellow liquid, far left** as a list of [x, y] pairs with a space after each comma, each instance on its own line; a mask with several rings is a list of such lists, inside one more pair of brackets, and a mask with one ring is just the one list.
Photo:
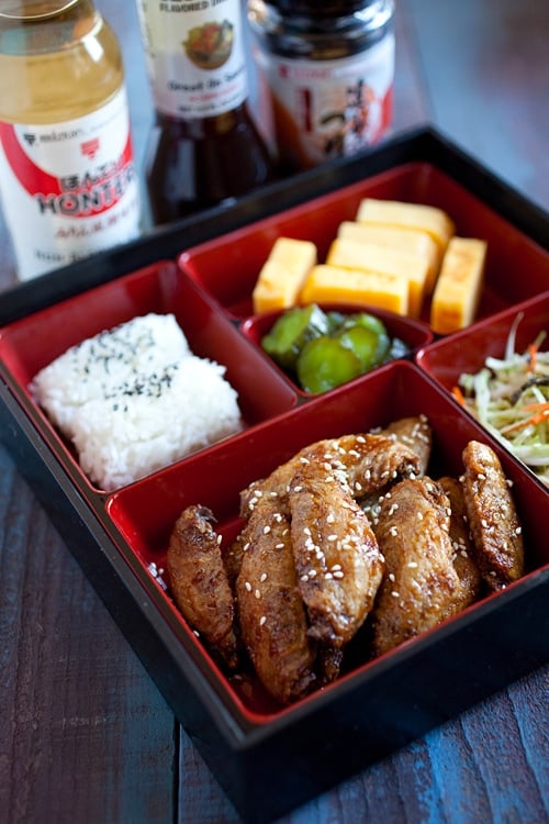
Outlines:
[[19, 278], [137, 236], [122, 56], [92, 0], [1, 0], [0, 82], [0, 197]]

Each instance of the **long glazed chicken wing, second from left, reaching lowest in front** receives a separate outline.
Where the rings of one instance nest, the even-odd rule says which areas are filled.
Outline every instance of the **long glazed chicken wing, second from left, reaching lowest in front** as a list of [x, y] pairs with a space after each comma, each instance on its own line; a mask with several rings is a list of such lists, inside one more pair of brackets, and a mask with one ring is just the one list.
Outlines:
[[288, 704], [312, 689], [315, 649], [299, 592], [290, 523], [274, 499], [258, 503], [242, 541], [236, 594], [243, 639], [265, 688]]

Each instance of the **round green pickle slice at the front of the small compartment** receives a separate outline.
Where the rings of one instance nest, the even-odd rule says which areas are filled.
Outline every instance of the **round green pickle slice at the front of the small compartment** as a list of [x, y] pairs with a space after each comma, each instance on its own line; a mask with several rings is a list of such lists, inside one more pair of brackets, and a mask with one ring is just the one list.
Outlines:
[[359, 358], [340, 341], [323, 335], [310, 341], [298, 357], [298, 379], [306, 392], [327, 392], [362, 374]]

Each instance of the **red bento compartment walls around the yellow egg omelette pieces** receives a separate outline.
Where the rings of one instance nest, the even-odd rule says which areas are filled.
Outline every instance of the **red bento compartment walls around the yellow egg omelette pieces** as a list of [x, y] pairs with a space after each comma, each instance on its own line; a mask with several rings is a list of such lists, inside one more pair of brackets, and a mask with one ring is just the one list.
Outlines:
[[[187, 249], [179, 257], [179, 266], [227, 312], [239, 318], [249, 315], [251, 291], [276, 238], [283, 235], [313, 241], [322, 261], [339, 223], [355, 219], [365, 197], [445, 209], [459, 235], [488, 242], [479, 319], [547, 289], [549, 253], [459, 182], [426, 163], [395, 167]], [[428, 320], [428, 305], [423, 316]]]

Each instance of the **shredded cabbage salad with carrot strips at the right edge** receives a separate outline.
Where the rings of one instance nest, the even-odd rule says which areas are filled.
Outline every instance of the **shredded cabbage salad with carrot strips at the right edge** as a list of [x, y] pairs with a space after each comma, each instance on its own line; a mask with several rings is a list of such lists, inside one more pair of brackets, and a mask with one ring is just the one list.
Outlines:
[[462, 374], [453, 394], [504, 446], [549, 486], [549, 352], [542, 331], [516, 352], [515, 318], [502, 358], [486, 357], [477, 374]]

